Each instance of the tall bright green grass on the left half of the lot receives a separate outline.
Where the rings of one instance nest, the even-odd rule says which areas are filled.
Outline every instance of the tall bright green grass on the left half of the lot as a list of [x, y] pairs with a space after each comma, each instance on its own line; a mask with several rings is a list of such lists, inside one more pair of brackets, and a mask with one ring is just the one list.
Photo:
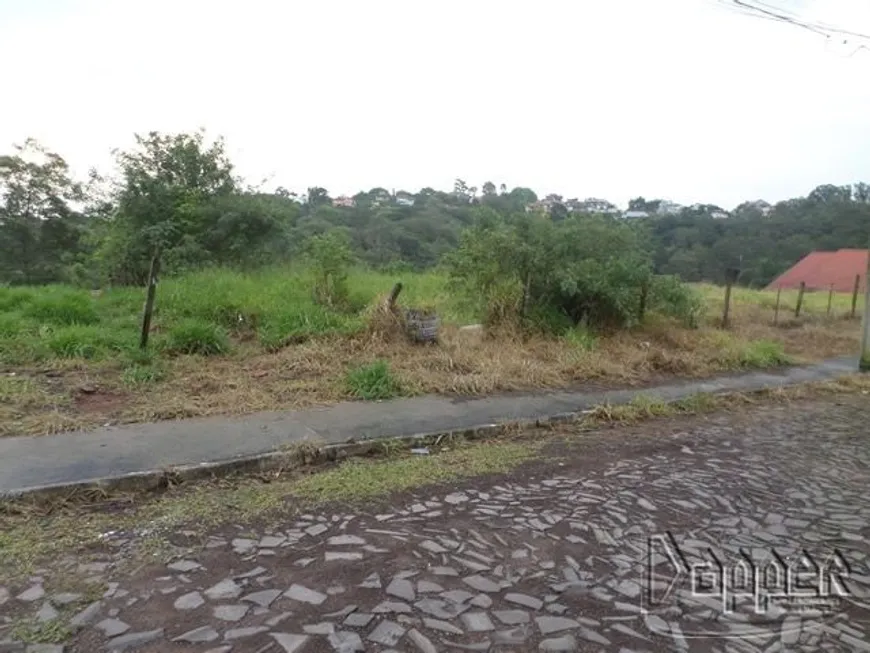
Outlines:
[[[350, 308], [341, 312], [314, 302], [313, 279], [301, 268], [215, 269], [160, 283], [152, 342], [166, 355], [219, 355], [242, 337], [275, 350], [312, 337], [357, 333], [365, 326], [362, 309], [396, 281], [404, 286], [399, 297], [404, 306], [434, 305], [448, 323], [477, 321], [451, 301], [446, 278], [437, 272], [353, 270]], [[92, 295], [62, 285], [0, 287], [0, 363], [105, 360], [119, 352], [132, 356], [144, 299], [142, 288], [107, 288]]]

